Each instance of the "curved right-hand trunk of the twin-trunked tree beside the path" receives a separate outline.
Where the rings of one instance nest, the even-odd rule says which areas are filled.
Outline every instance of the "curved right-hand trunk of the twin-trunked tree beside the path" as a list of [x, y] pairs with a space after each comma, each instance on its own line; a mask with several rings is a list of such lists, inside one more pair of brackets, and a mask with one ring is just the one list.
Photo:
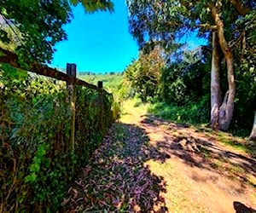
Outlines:
[[[218, 3], [221, 5], [221, 3]], [[212, 18], [215, 24], [218, 26], [218, 40], [220, 48], [224, 53], [224, 58], [227, 63], [228, 70], [228, 82], [229, 82], [229, 90], [227, 91], [224, 101], [219, 107], [218, 112], [218, 130], [228, 130], [230, 127], [230, 123], [233, 118], [234, 112], [234, 101], [236, 95], [236, 83], [234, 78], [234, 55], [233, 50], [230, 48], [224, 36], [224, 23], [220, 18], [220, 14], [218, 14], [218, 9], [215, 5], [210, 4], [210, 9], [212, 10]]]

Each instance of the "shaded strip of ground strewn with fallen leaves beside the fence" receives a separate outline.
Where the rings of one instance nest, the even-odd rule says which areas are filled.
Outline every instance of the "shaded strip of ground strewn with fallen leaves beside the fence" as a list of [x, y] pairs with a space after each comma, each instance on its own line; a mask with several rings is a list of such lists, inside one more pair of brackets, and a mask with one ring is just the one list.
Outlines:
[[151, 173], [148, 159], [169, 158], [148, 145], [143, 129], [116, 123], [70, 187], [65, 212], [168, 212], [166, 181]]

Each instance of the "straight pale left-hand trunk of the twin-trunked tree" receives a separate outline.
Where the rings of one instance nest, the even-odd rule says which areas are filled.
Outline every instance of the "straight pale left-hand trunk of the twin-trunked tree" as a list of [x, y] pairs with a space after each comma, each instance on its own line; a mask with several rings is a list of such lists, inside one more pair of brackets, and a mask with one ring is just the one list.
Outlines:
[[212, 32], [212, 70], [211, 70], [211, 127], [218, 129], [218, 108], [221, 104], [220, 53], [217, 32]]

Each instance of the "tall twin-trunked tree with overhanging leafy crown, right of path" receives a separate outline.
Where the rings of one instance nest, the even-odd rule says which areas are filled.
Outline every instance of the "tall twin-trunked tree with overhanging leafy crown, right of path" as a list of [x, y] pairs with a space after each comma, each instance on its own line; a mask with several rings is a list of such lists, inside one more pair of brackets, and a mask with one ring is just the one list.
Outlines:
[[[145, 43], [161, 43], [166, 49], [172, 46], [175, 38], [184, 33], [199, 29], [199, 35], [209, 37], [212, 42], [212, 126], [219, 130], [228, 130], [234, 112], [236, 83], [234, 77], [234, 49], [241, 36], [236, 31], [236, 21], [241, 15], [255, 8], [255, 1], [215, 0], [215, 1], [143, 1], [127, 0], [130, 9], [131, 34], [137, 38], [141, 47]], [[224, 55], [227, 68], [228, 91], [220, 100], [218, 83], [219, 57], [217, 45]], [[215, 89], [213, 89], [213, 84]], [[217, 91], [216, 91], [217, 88]], [[217, 95], [217, 96], [216, 96]], [[222, 103], [221, 103], [222, 102]]]

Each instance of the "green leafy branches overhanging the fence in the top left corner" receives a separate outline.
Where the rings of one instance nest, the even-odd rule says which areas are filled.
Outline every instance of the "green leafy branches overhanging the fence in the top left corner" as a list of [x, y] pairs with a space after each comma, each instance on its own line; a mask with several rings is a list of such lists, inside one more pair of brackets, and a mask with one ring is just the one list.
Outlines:
[[49, 62], [55, 43], [67, 39], [62, 26], [73, 17], [71, 3], [82, 3], [86, 12], [113, 11], [109, 0], [3, 0], [0, 1], [0, 39], [9, 42], [9, 27], [18, 39], [16, 52], [23, 59]]

